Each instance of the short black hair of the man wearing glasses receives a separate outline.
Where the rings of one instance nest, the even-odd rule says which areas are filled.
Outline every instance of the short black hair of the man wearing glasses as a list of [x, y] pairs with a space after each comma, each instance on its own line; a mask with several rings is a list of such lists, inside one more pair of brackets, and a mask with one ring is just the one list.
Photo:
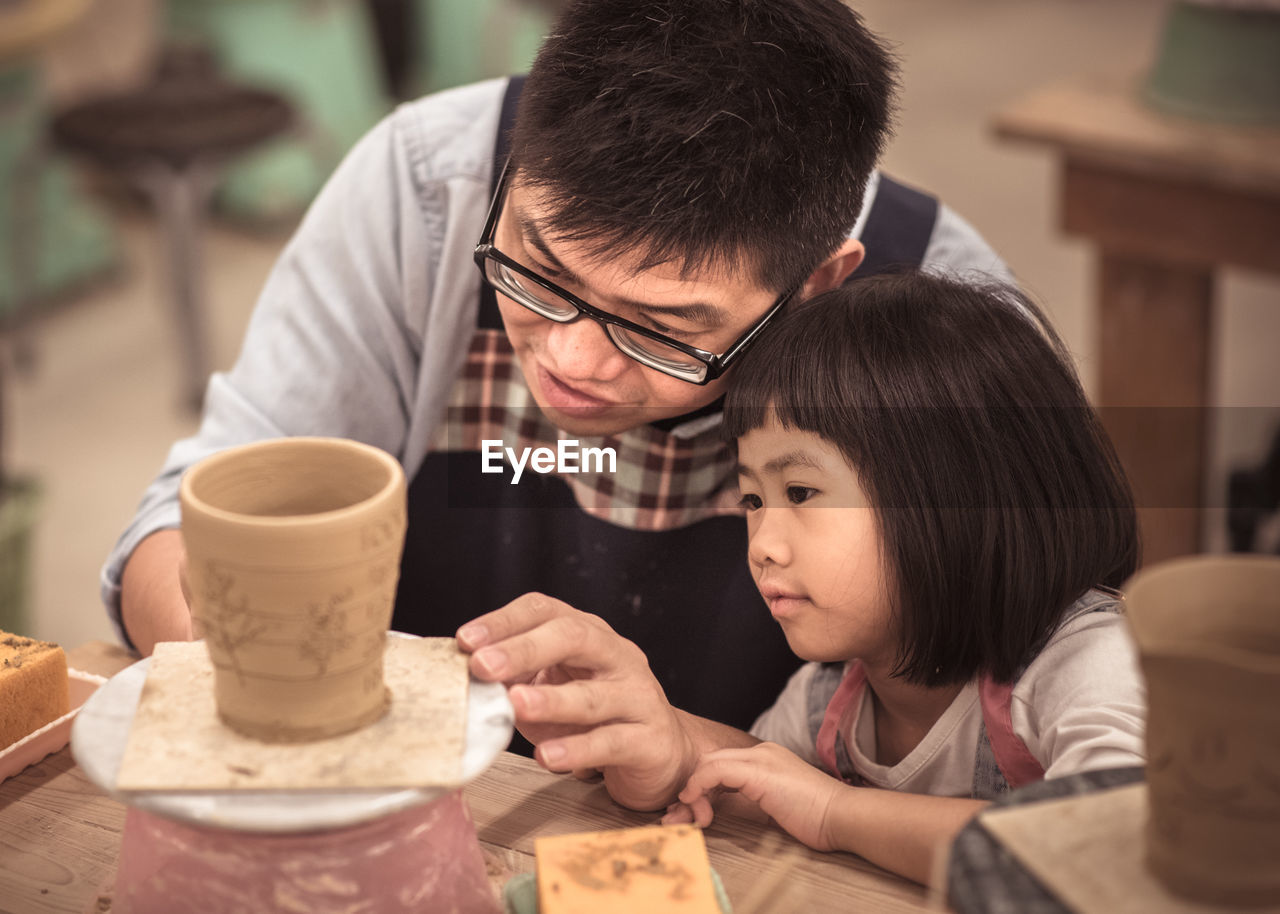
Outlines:
[[512, 164], [562, 241], [781, 292], [856, 220], [895, 90], [840, 0], [577, 0], [529, 74]]

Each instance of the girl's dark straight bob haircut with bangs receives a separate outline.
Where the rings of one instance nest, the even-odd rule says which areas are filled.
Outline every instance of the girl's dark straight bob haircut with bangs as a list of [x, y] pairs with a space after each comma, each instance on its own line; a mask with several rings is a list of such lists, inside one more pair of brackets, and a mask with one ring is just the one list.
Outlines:
[[[1088, 589], [1138, 563], [1124, 470], [1039, 309], [925, 273], [856, 280], [780, 315], [724, 403], [841, 449], [896, 589], [895, 675], [1007, 682]], [[822, 509], [822, 508], [815, 508]]]

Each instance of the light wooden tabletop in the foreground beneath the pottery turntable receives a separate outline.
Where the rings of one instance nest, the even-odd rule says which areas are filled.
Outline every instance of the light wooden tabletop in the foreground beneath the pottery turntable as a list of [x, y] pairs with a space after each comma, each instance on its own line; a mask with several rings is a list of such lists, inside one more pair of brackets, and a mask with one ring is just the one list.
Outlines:
[[[110, 676], [134, 658], [92, 641], [68, 652], [77, 669]], [[495, 885], [532, 872], [534, 837], [652, 824], [653, 814], [616, 805], [598, 783], [552, 774], [504, 753], [467, 786]], [[76, 766], [50, 755], [0, 785], [0, 913], [109, 910], [124, 806]], [[707, 830], [712, 865], [736, 914], [763, 911], [925, 911], [925, 890], [849, 854], [819, 854], [772, 826], [718, 817]]]

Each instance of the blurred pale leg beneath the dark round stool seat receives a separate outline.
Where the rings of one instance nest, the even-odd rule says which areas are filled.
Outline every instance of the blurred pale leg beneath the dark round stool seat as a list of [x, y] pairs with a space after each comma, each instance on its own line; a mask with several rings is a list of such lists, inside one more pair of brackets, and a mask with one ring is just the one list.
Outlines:
[[205, 338], [205, 277], [201, 237], [211, 175], [200, 165], [156, 166], [145, 172], [142, 184], [160, 216], [166, 252], [174, 320], [183, 358], [184, 398], [198, 411], [209, 381]]

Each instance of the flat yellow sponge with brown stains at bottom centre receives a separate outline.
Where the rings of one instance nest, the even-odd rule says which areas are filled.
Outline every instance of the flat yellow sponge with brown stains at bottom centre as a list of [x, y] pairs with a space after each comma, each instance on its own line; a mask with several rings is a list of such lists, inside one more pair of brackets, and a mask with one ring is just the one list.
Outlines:
[[646, 826], [534, 841], [539, 914], [719, 914], [703, 833]]

